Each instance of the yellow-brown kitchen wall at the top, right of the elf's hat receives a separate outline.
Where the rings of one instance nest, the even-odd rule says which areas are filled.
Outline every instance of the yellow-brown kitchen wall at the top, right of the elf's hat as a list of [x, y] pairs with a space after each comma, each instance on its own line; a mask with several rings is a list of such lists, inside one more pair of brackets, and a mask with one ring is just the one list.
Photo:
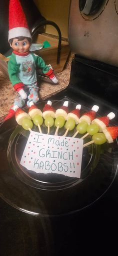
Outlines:
[[[68, 37], [68, 14], [70, 0], [34, 0], [40, 13], [46, 20], [55, 22], [64, 38]], [[56, 29], [52, 26], [46, 26], [46, 33], [57, 35]]]

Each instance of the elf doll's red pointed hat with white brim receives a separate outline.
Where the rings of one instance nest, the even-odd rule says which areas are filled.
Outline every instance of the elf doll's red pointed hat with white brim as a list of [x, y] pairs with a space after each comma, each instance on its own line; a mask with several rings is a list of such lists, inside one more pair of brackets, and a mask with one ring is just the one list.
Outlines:
[[31, 38], [31, 35], [21, 4], [18, 0], [10, 0], [8, 41], [17, 37]]

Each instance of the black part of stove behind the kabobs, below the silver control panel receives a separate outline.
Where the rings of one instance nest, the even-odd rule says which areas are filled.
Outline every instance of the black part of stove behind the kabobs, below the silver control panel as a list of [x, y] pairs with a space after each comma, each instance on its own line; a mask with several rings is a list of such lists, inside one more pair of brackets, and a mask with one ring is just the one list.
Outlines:
[[117, 67], [75, 55], [71, 63], [68, 87], [51, 99], [59, 100], [65, 96], [70, 101], [89, 108], [96, 104], [99, 106], [98, 113], [102, 116], [110, 111], [114, 112], [117, 123], [117, 93]]

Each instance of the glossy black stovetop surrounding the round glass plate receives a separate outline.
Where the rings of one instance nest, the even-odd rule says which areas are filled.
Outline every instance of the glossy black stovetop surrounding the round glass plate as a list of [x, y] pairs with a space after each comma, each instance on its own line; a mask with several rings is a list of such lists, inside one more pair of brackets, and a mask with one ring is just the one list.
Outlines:
[[[49, 99], [54, 101], [69, 100], [70, 104], [77, 102], [83, 108], [87, 107], [88, 109], [93, 104], [99, 105], [99, 115], [105, 115], [113, 111], [115, 118], [112, 123], [117, 125], [117, 74], [117, 68], [96, 61], [85, 60], [76, 55], [72, 61], [68, 87]], [[4, 134], [6, 140], [8, 139], [7, 130], [10, 129], [10, 125], [15, 127], [14, 119], [6, 121]], [[1, 128], [1, 144], [2, 133]], [[2, 148], [3, 156], [4, 150], [5, 145]], [[108, 154], [108, 165], [110, 165], [110, 152]], [[4, 161], [5, 159], [2, 158], [1, 162], [4, 163]], [[115, 164], [116, 162], [117, 159]], [[4, 172], [5, 170], [4, 167]], [[3, 177], [5, 177], [5, 173]], [[12, 182], [12, 179], [10, 179], [11, 177], [8, 175], [4, 182], [10, 184]], [[115, 243], [118, 215], [117, 183], [118, 176], [115, 175], [111, 186], [99, 200], [96, 200], [87, 208], [72, 213], [68, 212], [68, 214], [62, 216], [61, 214], [59, 216], [33, 216], [30, 212], [26, 214], [14, 209], [12, 205], [9, 205], [9, 202], [6, 203], [0, 199], [0, 256], [74, 256], [77, 252], [80, 253], [81, 248], [82, 253], [90, 254], [92, 252], [94, 254], [101, 253], [103, 249], [107, 253], [111, 248], [113, 254], [113, 249], [117, 244]], [[18, 189], [17, 187], [17, 193]], [[103, 189], [103, 184], [101, 184], [101, 189]], [[13, 191], [11, 192], [13, 195]], [[3, 198], [2, 193], [0, 195]], [[77, 200], [78, 195], [74, 195]], [[81, 194], [81, 196], [84, 197], [84, 194]], [[69, 198], [69, 194], [67, 198]], [[51, 204], [52, 199], [48, 200]], [[55, 204], [58, 204], [58, 198]], [[95, 249], [93, 249], [93, 245]]]

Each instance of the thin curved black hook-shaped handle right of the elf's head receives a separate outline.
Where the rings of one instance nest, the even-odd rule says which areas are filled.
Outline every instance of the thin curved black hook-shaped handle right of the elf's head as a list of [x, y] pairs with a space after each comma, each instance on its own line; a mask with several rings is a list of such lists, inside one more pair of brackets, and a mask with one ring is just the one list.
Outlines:
[[40, 22], [38, 25], [34, 26], [32, 28], [32, 31], [31, 31], [31, 36], [33, 37], [35, 35], [35, 33], [38, 31], [38, 29], [43, 26], [43, 25], [51, 25], [53, 26], [57, 32], [58, 32], [58, 48], [57, 48], [57, 59], [56, 59], [56, 64], [59, 64], [60, 62], [60, 51], [61, 51], [61, 32], [60, 32], [60, 29], [59, 27], [57, 26], [57, 24], [55, 22], [52, 22], [52, 21], [42, 21]]

